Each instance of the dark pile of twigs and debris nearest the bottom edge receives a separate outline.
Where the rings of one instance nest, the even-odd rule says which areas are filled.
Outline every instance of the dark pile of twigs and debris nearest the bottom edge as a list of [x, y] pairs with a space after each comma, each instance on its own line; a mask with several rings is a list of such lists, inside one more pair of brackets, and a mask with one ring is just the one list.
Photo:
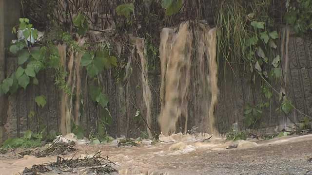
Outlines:
[[117, 172], [116, 165], [108, 157], [101, 157], [101, 151], [96, 152], [93, 156], [84, 158], [65, 159], [57, 157], [57, 161], [50, 164], [33, 165], [32, 168], [25, 168], [22, 175], [36, 175], [49, 172], [73, 172], [75, 168], [84, 168], [88, 174], [107, 175]]

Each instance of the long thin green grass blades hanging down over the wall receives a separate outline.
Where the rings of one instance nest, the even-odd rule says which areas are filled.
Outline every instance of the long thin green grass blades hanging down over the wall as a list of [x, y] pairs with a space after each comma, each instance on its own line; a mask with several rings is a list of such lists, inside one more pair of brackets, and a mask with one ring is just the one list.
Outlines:
[[245, 40], [250, 37], [246, 9], [239, 0], [222, 0], [216, 15], [217, 60], [224, 64], [243, 63]]

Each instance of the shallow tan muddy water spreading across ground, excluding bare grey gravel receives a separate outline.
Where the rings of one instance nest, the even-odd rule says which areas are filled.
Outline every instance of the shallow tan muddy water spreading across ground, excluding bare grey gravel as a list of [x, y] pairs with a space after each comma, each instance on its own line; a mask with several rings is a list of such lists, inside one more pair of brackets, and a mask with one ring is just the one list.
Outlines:
[[[233, 157], [242, 157], [244, 159], [248, 157], [260, 157], [259, 162], [261, 163], [263, 161], [261, 157], [263, 156], [264, 158], [273, 156], [270, 158], [276, 157], [278, 159], [279, 156], [283, 155], [283, 149], [281, 149], [283, 147], [292, 148], [297, 145], [296, 147], [299, 149], [299, 145], [304, 145], [305, 143], [310, 144], [312, 141], [312, 135], [258, 141], [258, 144], [255, 144], [256, 146], [251, 144], [251, 142], [237, 141], [241, 143], [241, 146], [238, 146], [241, 148], [226, 149], [229, 145], [233, 144], [233, 141], [213, 137], [213, 139], [203, 142], [202, 140], [207, 137], [209, 137], [208, 134], [182, 135], [179, 133], [169, 137], [160, 136], [159, 139], [162, 142], [158, 142], [155, 145], [151, 144], [151, 140], [142, 141], [140, 147], [117, 148], [117, 140], [114, 140], [110, 145], [77, 145], [78, 152], [74, 158], [86, 155], [86, 152], [92, 154], [101, 150], [102, 156], [108, 156], [110, 160], [116, 162], [120, 175], [199, 175], [207, 174], [203, 172], [209, 164], [213, 163], [211, 161], [218, 162], [222, 165], [223, 162], [232, 161]], [[308, 148], [311, 151], [309, 144]], [[293, 151], [295, 150], [297, 149]], [[246, 155], [245, 152], [249, 152], [251, 155]], [[311, 155], [311, 152], [307, 152], [307, 150], [301, 150], [298, 153], [300, 152], [305, 153], [307, 156]], [[298, 155], [298, 153], [293, 154]], [[5, 156], [9, 156], [10, 154]], [[291, 152], [288, 154], [291, 154]], [[227, 155], [231, 155], [230, 159], [228, 159], [229, 157]], [[67, 157], [72, 156], [73, 154]], [[56, 161], [56, 157], [36, 158], [26, 156], [16, 159], [2, 157], [0, 155], [0, 175], [18, 175], [18, 172], [22, 172], [24, 167], [31, 167], [33, 164], [52, 161]], [[216, 164], [215, 166], [220, 165]], [[222, 172], [223, 169], [221, 167], [218, 171]], [[205, 171], [209, 172], [210, 170]], [[79, 175], [79, 172], [77, 174]], [[209, 175], [215, 174], [218, 173], [212, 172]]]

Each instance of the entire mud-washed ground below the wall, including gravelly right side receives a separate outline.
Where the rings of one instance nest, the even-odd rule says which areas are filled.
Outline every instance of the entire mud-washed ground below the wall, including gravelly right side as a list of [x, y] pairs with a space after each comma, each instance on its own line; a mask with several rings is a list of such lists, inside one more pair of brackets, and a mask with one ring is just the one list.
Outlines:
[[[163, 142], [152, 145], [151, 141], [142, 141], [140, 147], [118, 148], [117, 141], [110, 145], [77, 145], [76, 155], [68, 157], [100, 150], [102, 156], [117, 164], [119, 175], [312, 175], [312, 135], [253, 140], [257, 144], [238, 141], [234, 149], [226, 149], [234, 142], [202, 142], [204, 138], [160, 137]], [[56, 161], [56, 157], [16, 159], [10, 154], [0, 155], [0, 175], [19, 175], [25, 167]]]

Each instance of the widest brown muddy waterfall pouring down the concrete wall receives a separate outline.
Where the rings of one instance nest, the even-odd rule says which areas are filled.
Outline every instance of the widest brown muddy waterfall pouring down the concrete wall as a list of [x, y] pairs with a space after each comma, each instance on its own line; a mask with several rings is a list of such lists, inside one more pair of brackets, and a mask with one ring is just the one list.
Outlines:
[[176, 132], [179, 119], [184, 121], [184, 133], [188, 130], [188, 94], [194, 61], [200, 65], [200, 82], [195, 85], [199, 89], [200, 118], [203, 119], [200, 127], [202, 131], [215, 133], [214, 108], [218, 96], [215, 32], [215, 28], [203, 24], [193, 28], [191, 21], [181, 23], [177, 29], [164, 28], [161, 32], [161, 110], [158, 122], [166, 136]]

